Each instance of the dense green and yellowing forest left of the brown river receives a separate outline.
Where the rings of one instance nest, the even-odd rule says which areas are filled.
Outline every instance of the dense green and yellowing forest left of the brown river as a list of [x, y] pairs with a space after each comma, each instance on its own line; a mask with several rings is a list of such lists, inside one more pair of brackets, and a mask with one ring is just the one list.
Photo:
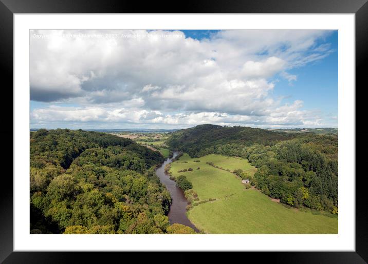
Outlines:
[[30, 132], [30, 233], [194, 233], [170, 225], [170, 193], [154, 171], [163, 160], [106, 133]]

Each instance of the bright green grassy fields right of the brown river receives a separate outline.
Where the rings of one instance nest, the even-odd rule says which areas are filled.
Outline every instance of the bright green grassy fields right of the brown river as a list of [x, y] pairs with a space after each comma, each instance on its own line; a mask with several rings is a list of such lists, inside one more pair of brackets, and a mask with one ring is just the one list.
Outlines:
[[[200, 163], [193, 160], [199, 159]], [[187, 161], [187, 163], [184, 163]], [[241, 179], [223, 169], [252, 170], [246, 159], [207, 155], [190, 158], [184, 154], [172, 163], [173, 176], [185, 175], [192, 182], [199, 201], [216, 199], [188, 211], [193, 224], [210, 234], [337, 234], [338, 218], [329, 213], [288, 208], [258, 190], [246, 190]], [[196, 168], [200, 167], [199, 170]], [[192, 168], [193, 171], [178, 173]]]

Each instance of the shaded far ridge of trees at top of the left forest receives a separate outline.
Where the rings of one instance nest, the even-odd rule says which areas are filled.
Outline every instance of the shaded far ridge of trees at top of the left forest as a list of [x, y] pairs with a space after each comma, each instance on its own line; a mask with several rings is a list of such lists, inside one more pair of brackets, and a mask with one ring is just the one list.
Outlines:
[[67, 169], [72, 161], [85, 150], [107, 147], [116, 147], [109, 151], [109, 154], [113, 154], [116, 150], [124, 150], [128, 155], [134, 154], [134, 156], [143, 159], [148, 167], [163, 161], [160, 153], [140, 146], [131, 139], [83, 130], [56, 129], [48, 131], [40, 129], [32, 133], [30, 137], [30, 164], [33, 168], [42, 169], [47, 163], [51, 163]]

